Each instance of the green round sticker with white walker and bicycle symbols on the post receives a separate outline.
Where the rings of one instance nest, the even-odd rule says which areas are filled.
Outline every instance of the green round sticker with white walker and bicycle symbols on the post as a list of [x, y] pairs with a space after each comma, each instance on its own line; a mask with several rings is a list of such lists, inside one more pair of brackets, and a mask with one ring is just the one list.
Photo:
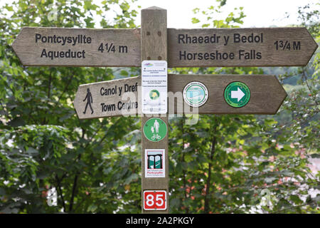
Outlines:
[[144, 136], [151, 142], [159, 142], [166, 137], [166, 123], [160, 118], [150, 118], [144, 123]]

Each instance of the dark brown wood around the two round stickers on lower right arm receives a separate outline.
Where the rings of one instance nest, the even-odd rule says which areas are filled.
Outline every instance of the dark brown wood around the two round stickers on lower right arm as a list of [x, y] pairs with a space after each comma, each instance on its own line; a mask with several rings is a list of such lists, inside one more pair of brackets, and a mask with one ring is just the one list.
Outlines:
[[[198, 108], [199, 114], [275, 114], [287, 97], [276, 76], [267, 75], [169, 75], [168, 90], [173, 93], [180, 92], [191, 81], [199, 81], [208, 88], [208, 100]], [[234, 81], [245, 83], [250, 89], [250, 101], [241, 108], [233, 108], [225, 102], [224, 90]], [[177, 100], [174, 113], [180, 113], [176, 108], [181, 106], [179, 101], [181, 98]], [[169, 96], [169, 113], [173, 112], [170, 109], [173, 106], [172, 102], [173, 99]], [[183, 102], [183, 105], [187, 104]], [[187, 108], [183, 109], [183, 113], [196, 113], [196, 111], [189, 111]]]

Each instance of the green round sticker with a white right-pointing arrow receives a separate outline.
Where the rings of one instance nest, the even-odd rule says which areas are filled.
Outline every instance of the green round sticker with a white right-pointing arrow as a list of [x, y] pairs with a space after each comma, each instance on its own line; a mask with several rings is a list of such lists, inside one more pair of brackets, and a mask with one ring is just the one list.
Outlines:
[[241, 83], [235, 81], [225, 88], [225, 101], [233, 108], [245, 106], [250, 100], [250, 89]]

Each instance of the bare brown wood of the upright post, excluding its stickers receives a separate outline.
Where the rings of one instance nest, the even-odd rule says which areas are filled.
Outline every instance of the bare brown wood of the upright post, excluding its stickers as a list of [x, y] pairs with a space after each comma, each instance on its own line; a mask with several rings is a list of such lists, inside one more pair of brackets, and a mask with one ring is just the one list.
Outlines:
[[[141, 61], [162, 60], [167, 61], [167, 28], [166, 9], [150, 7], [142, 9], [141, 18]], [[141, 81], [141, 79], [140, 79]], [[140, 84], [141, 85], [141, 84]], [[139, 99], [140, 100], [140, 99]], [[139, 106], [140, 107], [140, 106]], [[142, 115], [142, 132], [146, 120], [150, 117]], [[168, 115], [161, 118], [166, 123], [168, 132], [166, 137], [160, 142], [149, 141], [142, 133], [142, 213], [169, 213], [169, 124]], [[165, 149], [165, 177], [144, 177], [145, 172], [145, 149]], [[146, 211], [143, 208], [144, 190], [166, 190], [166, 210]]]

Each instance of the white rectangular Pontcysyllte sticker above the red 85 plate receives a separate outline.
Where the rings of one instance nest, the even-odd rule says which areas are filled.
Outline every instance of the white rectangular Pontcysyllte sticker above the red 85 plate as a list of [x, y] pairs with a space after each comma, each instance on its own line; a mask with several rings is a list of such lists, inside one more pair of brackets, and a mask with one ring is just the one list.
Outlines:
[[166, 177], [165, 149], [144, 150], [144, 177]]

